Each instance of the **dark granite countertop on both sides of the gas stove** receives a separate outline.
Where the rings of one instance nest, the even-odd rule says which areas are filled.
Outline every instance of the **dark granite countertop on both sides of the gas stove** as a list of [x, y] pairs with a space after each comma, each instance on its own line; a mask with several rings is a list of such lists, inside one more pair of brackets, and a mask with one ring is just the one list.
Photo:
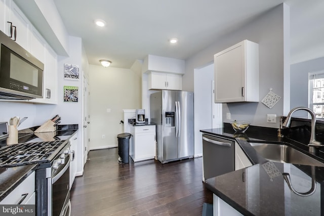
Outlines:
[[[40, 141], [54, 141], [54, 140], [68, 140], [78, 130], [77, 124], [58, 125], [55, 132], [45, 132], [34, 134], [36, 127], [23, 129], [19, 131], [18, 144], [26, 142], [40, 142]], [[0, 141], [0, 146], [5, 148], [7, 146], [6, 140]], [[0, 148], [1, 153], [1, 148]], [[0, 168], [0, 201], [3, 200], [12, 190], [14, 190], [23, 180], [25, 180], [33, 170], [37, 168], [38, 164], [16, 166], [9, 168]]]

